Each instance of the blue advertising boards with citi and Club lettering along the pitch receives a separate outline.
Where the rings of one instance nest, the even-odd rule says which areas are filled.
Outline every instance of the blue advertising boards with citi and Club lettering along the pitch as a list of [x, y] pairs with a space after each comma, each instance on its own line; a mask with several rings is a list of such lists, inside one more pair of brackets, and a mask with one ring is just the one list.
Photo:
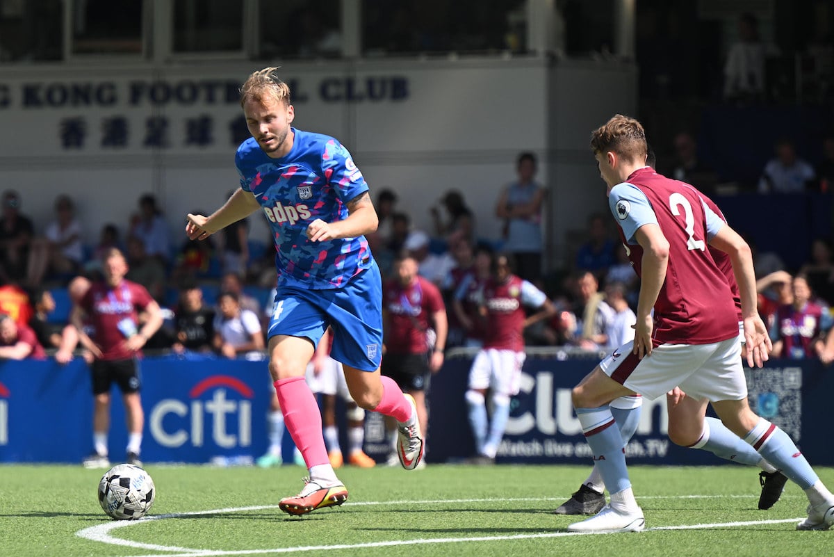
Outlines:
[[[450, 358], [432, 378], [428, 462], [455, 462], [474, 453], [464, 394], [470, 357]], [[497, 461], [587, 464], [590, 452], [570, 403], [570, 389], [595, 359], [531, 356]], [[255, 458], [267, 448], [273, 388], [264, 361], [205, 357], [147, 358], [141, 364], [148, 462], [207, 463], [214, 457]], [[771, 360], [748, 370], [751, 408], [778, 424], [811, 464], [834, 465], [828, 442], [834, 373], [816, 361]], [[83, 360], [0, 362], [0, 462], [80, 462], [92, 448], [93, 396]], [[109, 446], [113, 459], [127, 444], [124, 411], [113, 390]], [[344, 437], [344, 428], [342, 428]], [[366, 420], [365, 451], [389, 452], [378, 414]], [[626, 448], [634, 464], [721, 464], [705, 451], [666, 437], [666, 400], [644, 401], [641, 422]], [[284, 436], [284, 454], [292, 439]], [[291, 460], [291, 459], [289, 459]]]

